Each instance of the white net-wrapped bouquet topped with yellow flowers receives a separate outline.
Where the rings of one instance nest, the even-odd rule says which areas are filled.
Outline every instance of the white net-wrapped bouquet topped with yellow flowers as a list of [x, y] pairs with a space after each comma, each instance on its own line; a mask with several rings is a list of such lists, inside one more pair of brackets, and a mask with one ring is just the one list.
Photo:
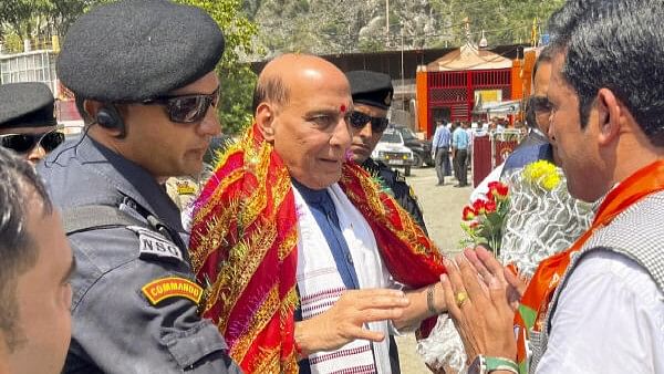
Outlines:
[[590, 227], [596, 205], [570, 196], [562, 170], [547, 160], [508, 172], [504, 180], [510, 204], [500, 258], [530, 277], [541, 260], [569, 248]]

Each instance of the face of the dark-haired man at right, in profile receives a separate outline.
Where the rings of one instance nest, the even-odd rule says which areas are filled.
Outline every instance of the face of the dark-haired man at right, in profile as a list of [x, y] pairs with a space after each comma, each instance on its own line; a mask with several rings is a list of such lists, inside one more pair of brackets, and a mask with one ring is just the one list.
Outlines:
[[605, 191], [602, 158], [596, 142], [599, 125], [596, 111], [591, 111], [588, 125], [581, 128], [579, 95], [562, 75], [564, 53], [558, 53], [552, 63], [548, 98], [551, 103], [549, 138], [558, 155], [570, 194], [585, 201], [595, 201]]

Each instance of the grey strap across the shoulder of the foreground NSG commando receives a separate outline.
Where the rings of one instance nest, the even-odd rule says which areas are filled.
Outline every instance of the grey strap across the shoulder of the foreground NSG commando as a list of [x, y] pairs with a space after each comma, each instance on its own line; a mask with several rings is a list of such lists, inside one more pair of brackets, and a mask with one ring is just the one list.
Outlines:
[[110, 205], [83, 205], [62, 211], [68, 236], [101, 228], [145, 226], [138, 219]]

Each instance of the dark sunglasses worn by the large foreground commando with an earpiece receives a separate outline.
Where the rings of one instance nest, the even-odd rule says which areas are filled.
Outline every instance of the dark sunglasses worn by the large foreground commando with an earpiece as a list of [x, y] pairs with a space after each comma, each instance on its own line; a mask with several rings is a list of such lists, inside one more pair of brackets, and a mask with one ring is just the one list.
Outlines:
[[143, 102], [144, 105], [164, 105], [168, 118], [176, 123], [197, 123], [200, 122], [210, 105], [217, 107], [219, 104], [219, 87], [211, 94], [196, 95], [175, 95], [159, 96], [148, 98]]

